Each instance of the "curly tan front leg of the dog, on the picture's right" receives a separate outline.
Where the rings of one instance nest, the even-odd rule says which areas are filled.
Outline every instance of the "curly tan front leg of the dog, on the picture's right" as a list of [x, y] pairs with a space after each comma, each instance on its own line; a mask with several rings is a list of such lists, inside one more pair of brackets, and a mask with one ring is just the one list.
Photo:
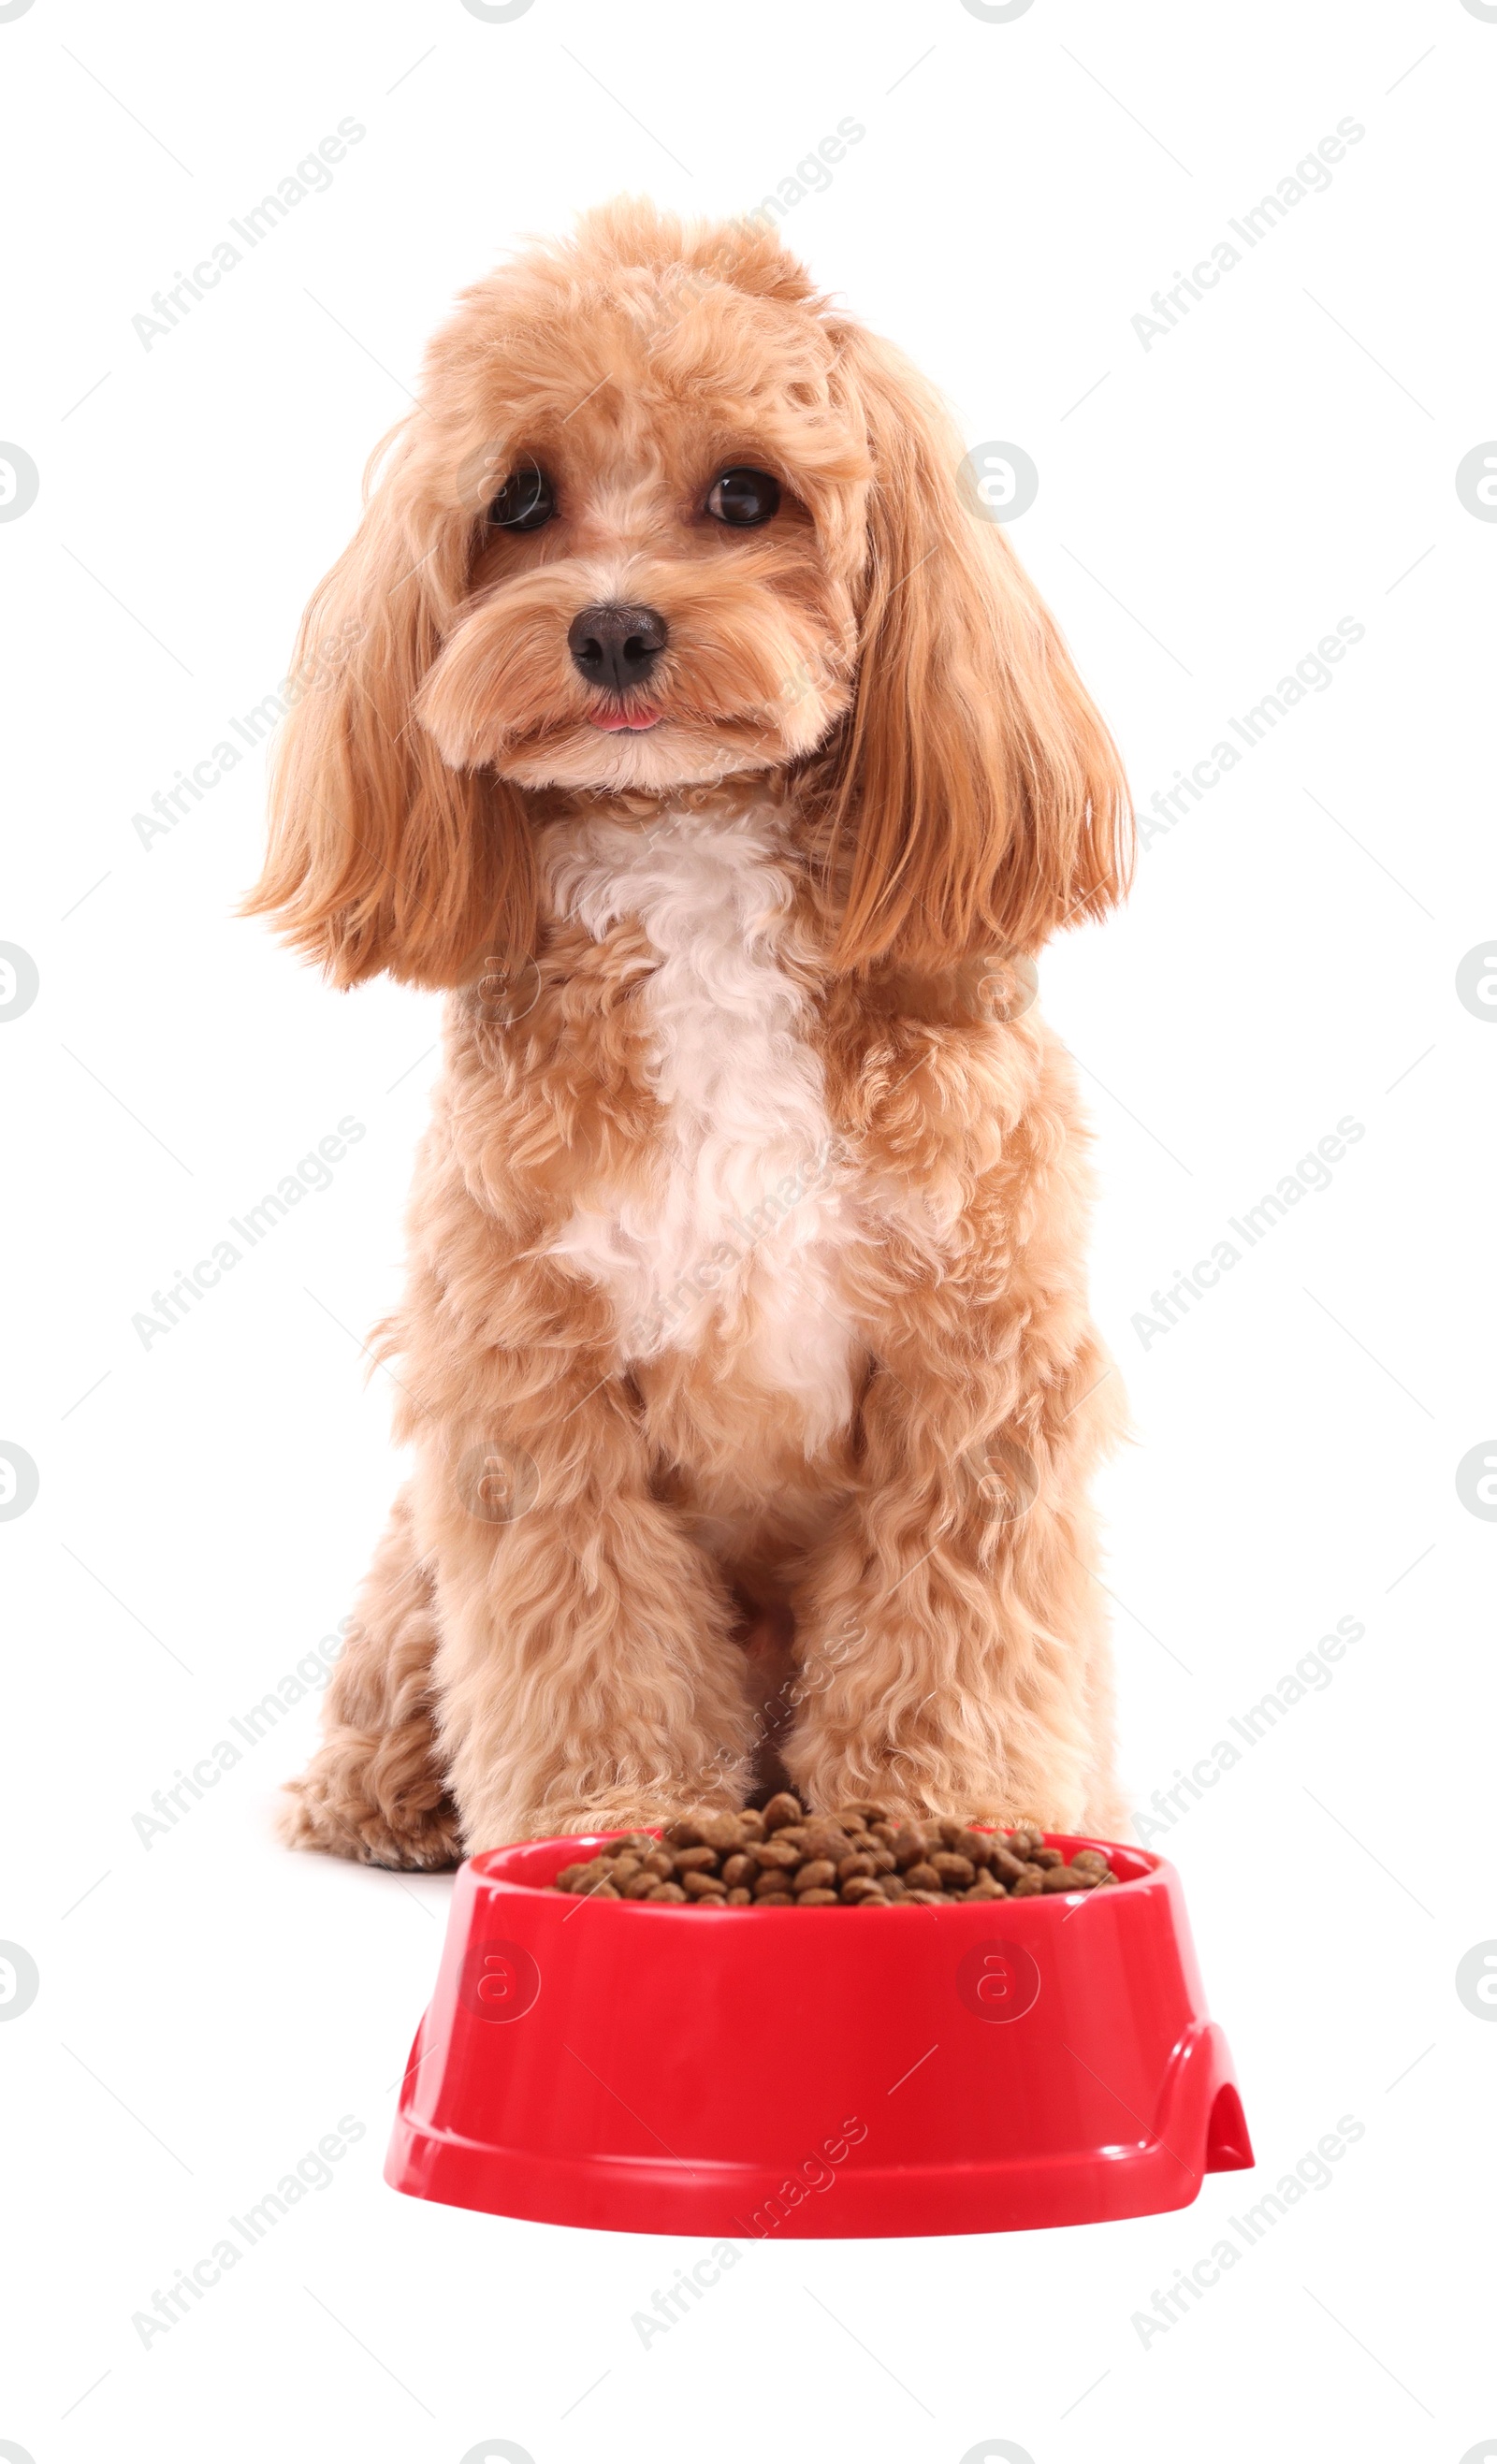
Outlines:
[[[809, 1804], [1120, 1818], [1105, 1602], [1085, 1478], [1107, 1375], [1083, 1343], [1043, 1392], [986, 1409], [930, 1375], [873, 1380], [858, 1496], [797, 1597], [787, 1769]], [[977, 1414], [977, 1427], [974, 1427]]]

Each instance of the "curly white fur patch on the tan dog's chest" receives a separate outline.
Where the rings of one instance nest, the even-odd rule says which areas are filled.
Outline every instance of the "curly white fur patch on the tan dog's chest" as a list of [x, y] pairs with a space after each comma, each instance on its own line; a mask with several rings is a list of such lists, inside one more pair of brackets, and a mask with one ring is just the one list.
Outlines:
[[552, 897], [602, 939], [639, 919], [666, 1138], [641, 1193], [599, 1193], [555, 1249], [614, 1296], [624, 1355], [713, 1355], [794, 1397], [806, 1444], [851, 1412], [839, 1259], [853, 1232], [806, 995], [782, 963], [792, 875], [772, 813], [557, 833]]

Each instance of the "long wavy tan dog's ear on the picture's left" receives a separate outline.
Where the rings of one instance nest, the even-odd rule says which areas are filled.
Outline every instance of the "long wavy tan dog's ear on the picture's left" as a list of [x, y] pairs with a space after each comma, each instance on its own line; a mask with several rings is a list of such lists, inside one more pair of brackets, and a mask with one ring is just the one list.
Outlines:
[[387, 971], [451, 986], [483, 956], [528, 956], [535, 865], [518, 788], [449, 769], [412, 717], [461, 606], [474, 505], [422, 471], [409, 434], [387, 446], [301, 621], [271, 843], [244, 912], [276, 917], [333, 983]]

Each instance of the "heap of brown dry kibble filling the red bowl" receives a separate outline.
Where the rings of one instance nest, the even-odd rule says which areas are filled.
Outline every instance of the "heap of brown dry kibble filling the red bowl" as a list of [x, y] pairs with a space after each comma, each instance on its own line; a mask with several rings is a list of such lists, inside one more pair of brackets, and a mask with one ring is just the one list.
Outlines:
[[1033, 1900], [1117, 1882], [1100, 1848], [1068, 1865], [1043, 1831], [905, 1823], [885, 1806], [806, 1814], [772, 1796], [762, 1814], [703, 1809], [656, 1841], [631, 1831], [562, 1865], [552, 1890], [587, 1900], [678, 1907], [945, 1907], [949, 1900]]

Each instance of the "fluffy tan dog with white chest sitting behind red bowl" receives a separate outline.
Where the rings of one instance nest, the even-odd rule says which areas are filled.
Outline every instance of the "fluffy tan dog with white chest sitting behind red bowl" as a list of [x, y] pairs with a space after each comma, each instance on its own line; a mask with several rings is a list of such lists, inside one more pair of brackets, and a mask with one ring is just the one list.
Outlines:
[[1033, 956], [1120, 756], [945, 409], [760, 224], [461, 296], [303, 618], [249, 912], [446, 993], [414, 1473], [291, 1841], [1117, 1836], [1088, 1136]]

